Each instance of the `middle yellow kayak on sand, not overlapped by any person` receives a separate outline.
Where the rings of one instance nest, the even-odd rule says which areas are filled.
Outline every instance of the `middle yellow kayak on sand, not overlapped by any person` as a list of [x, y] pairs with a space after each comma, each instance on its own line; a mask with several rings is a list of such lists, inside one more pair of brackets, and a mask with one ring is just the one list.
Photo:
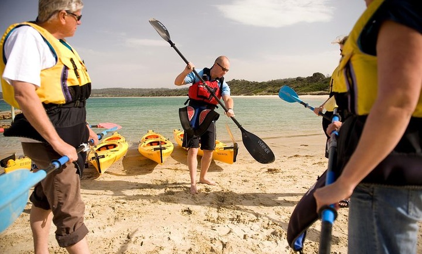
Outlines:
[[164, 163], [164, 160], [171, 155], [173, 149], [173, 142], [153, 130], [148, 130], [138, 145], [140, 154], [159, 164]]

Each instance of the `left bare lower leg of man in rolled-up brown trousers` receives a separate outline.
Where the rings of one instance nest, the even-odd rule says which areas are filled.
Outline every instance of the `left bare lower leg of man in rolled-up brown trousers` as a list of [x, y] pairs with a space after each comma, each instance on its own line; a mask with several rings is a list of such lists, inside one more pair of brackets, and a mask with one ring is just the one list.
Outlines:
[[30, 224], [35, 254], [49, 253], [49, 232], [53, 213], [35, 206], [31, 208]]

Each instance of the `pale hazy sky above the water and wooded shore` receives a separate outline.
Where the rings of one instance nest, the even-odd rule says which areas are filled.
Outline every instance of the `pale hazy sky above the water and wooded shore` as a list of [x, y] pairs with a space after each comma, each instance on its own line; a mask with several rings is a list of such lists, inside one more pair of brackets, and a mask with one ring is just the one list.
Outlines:
[[[225, 80], [330, 76], [337, 38], [365, 10], [364, 0], [84, 0], [81, 25], [66, 40], [87, 65], [94, 89], [176, 88], [185, 63], [149, 24], [162, 22], [197, 69], [225, 55]], [[35, 20], [37, 0], [0, 0], [0, 31]]]

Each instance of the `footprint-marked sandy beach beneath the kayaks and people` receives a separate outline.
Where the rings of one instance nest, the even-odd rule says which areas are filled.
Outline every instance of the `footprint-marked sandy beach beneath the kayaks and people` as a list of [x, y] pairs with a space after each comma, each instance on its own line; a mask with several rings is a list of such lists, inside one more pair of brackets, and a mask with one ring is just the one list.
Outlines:
[[[275, 162], [256, 162], [239, 141], [237, 162], [212, 162], [209, 176], [217, 185], [199, 185], [197, 195], [189, 193], [186, 152], [177, 146], [163, 165], [142, 157], [132, 144], [104, 175], [92, 166], [85, 169], [81, 192], [91, 252], [294, 253], [286, 240], [287, 226], [294, 206], [325, 171], [325, 136], [265, 142], [273, 149]], [[30, 207], [28, 203], [0, 234], [1, 253], [33, 252]], [[334, 223], [331, 253], [347, 253], [347, 213], [347, 208], [340, 209]], [[316, 222], [308, 230], [304, 253], [318, 252], [320, 229]], [[58, 247], [54, 226], [49, 246], [50, 253], [66, 253]]]

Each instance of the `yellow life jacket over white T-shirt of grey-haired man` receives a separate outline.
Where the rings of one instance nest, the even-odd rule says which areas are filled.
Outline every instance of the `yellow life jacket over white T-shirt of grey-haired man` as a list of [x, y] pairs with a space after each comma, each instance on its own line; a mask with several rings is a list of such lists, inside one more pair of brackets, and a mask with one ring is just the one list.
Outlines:
[[[88, 98], [91, 90], [91, 79], [76, 50], [69, 45], [67, 45], [69, 48], [66, 47], [50, 32], [31, 22], [13, 24], [3, 34], [0, 41], [0, 74], [2, 75], [6, 65], [6, 59], [3, 56], [4, 43], [13, 29], [23, 25], [31, 26], [37, 30], [57, 58], [57, 63], [54, 66], [41, 71], [41, 86], [36, 89], [41, 102], [45, 104], [66, 104]], [[82, 88], [84, 85], [88, 85], [89, 88]], [[1, 88], [4, 101], [15, 108], [19, 108], [15, 100], [13, 86], [1, 79]]]

